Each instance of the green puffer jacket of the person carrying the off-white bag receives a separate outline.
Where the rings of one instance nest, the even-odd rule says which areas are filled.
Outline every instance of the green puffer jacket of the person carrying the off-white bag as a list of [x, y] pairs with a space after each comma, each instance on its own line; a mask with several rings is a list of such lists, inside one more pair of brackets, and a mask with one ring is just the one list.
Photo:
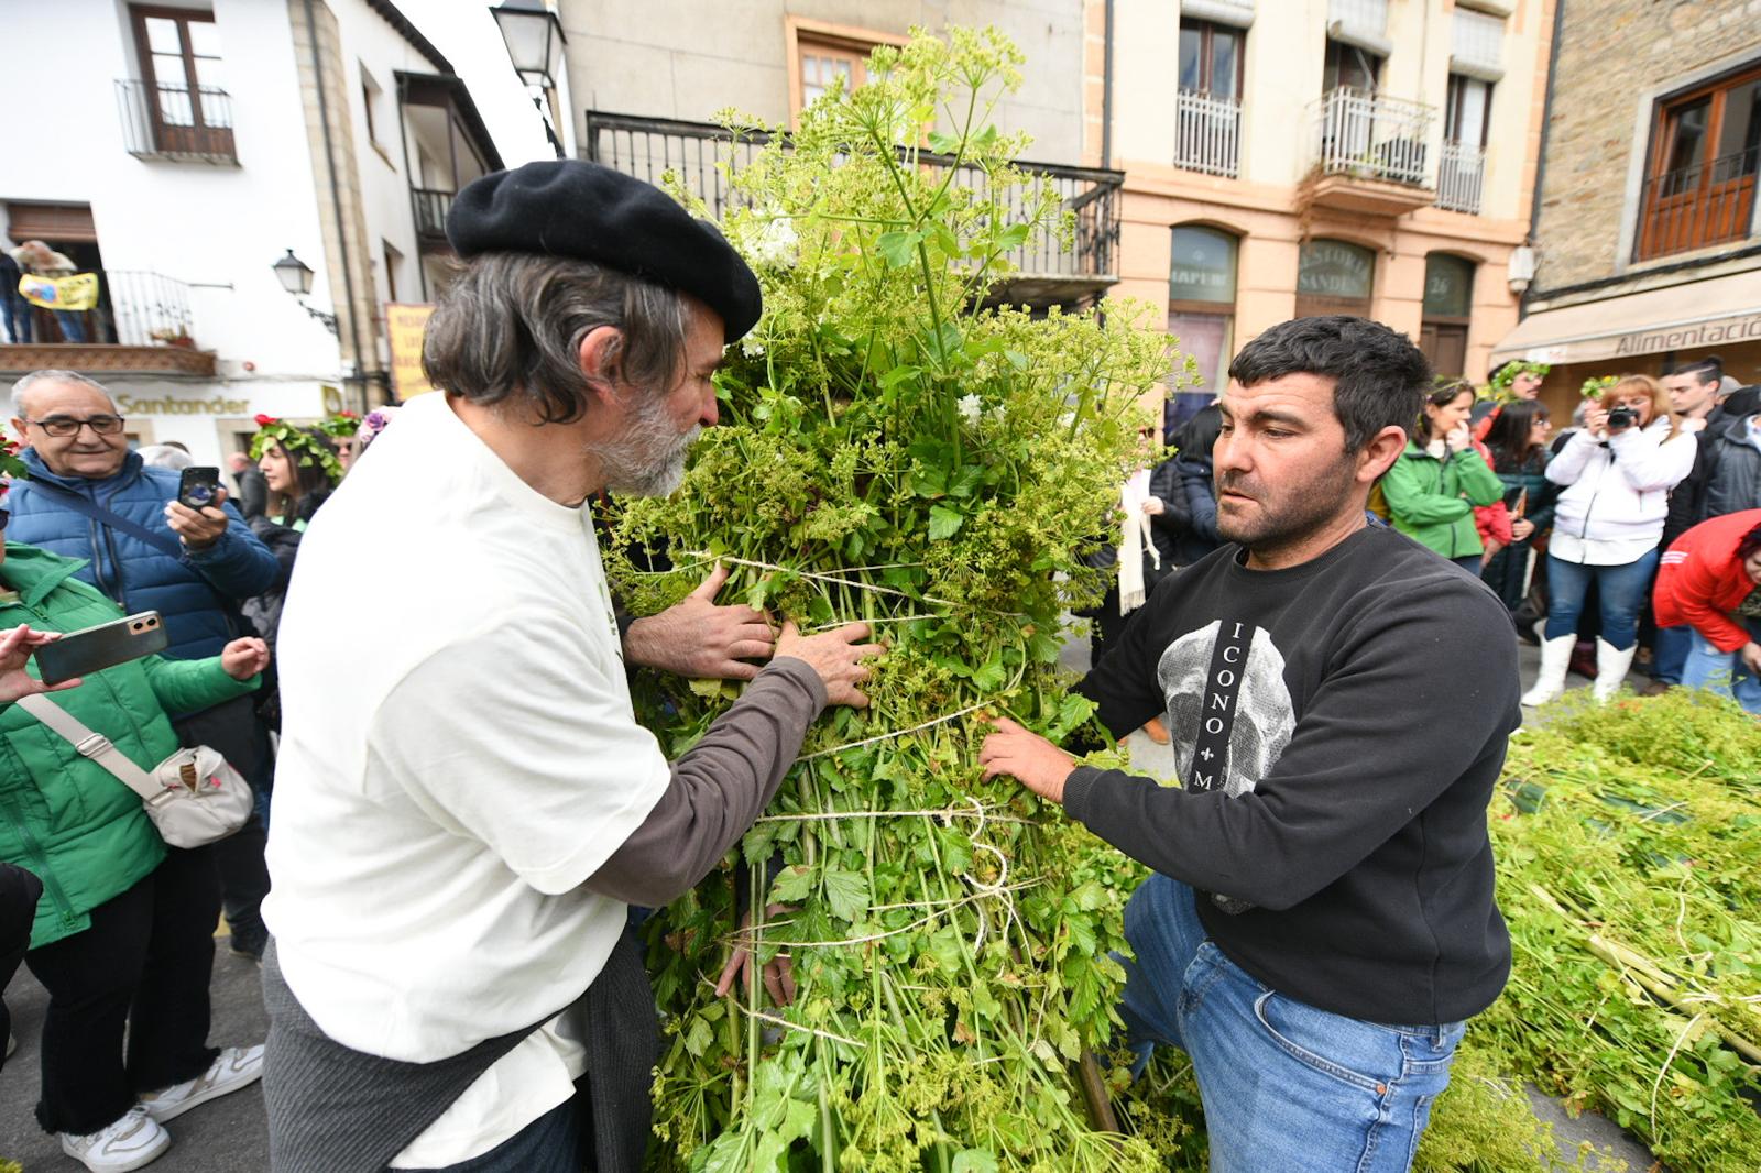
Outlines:
[[[95, 586], [72, 578], [83, 562], [7, 542], [0, 562], [0, 631], [79, 631], [122, 618]], [[35, 668], [32, 668], [35, 675]], [[166, 712], [192, 713], [243, 696], [257, 678], [232, 680], [220, 657], [150, 655], [49, 694], [143, 770], [178, 750]], [[166, 858], [141, 800], [107, 770], [18, 705], [0, 706], [0, 859], [42, 881], [30, 948], [92, 926], [92, 909], [146, 877]]]

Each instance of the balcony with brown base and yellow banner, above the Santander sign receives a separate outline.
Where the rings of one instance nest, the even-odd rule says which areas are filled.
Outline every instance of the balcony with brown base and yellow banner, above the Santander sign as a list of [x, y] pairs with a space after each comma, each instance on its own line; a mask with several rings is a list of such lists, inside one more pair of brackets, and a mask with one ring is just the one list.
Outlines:
[[190, 335], [188, 285], [143, 269], [100, 269], [90, 310], [30, 306], [28, 340], [0, 345], [0, 372], [213, 375], [213, 350]]

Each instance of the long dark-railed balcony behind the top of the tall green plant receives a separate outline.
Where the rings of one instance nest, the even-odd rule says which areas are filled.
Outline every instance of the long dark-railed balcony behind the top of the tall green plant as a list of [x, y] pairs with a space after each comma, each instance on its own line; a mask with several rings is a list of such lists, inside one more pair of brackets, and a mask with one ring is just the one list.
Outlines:
[[[586, 157], [648, 183], [660, 183], [671, 171], [713, 217], [740, 197], [727, 185], [727, 173], [750, 164], [770, 141], [766, 134], [734, 139], [711, 123], [673, 118], [586, 113]], [[930, 169], [953, 166], [947, 155], [917, 151], [917, 164]], [[1028, 181], [1058, 194], [1076, 217], [1069, 245], [1057, 225], [1041, 227], [1009, 254], [1016, 271], [990, 291], [990, 299], [1014, 305], [1067, 305], [1099, 298], [1118, 282], [1118, 224], [1125, 176], [1120, 171], [1020, 162]], [[956, 183], [983, 192], [988, 180], [979, 167], [962, 164]], [[1011, 199], [1021, 201], [1016, 192]]]

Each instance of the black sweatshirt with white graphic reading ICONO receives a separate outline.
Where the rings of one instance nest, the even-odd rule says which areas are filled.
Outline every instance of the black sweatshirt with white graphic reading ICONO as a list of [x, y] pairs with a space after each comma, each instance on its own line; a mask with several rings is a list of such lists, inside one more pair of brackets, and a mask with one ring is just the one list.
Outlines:
[[1393, 1025], [1483, 1011], [1511, 963], [1486, 837], [1522, 724], [1504, 604], [1382, 527], [1242, 560], [1164, 579], [1079, 685], [1116, 736], [1164, 717], [1185, 789], [1079, 768], [1067, 812], [1199, 889], [1210, 937], [1282, 993]]

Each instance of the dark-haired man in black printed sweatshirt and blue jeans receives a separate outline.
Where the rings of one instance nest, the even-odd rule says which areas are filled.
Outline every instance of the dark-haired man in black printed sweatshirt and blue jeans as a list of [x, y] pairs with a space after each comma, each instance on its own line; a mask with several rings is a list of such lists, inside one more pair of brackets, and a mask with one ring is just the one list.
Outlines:
[[981, 752], [1155, 868], [1120, 1013], [1139, 1066], [1190, 1055], [1213, 1173], [1409, 1168], [1509, 972], [1486, 803], [1520, 724], [1511, 620], [1365, 520], [1428, 386], [1356, 317], [1284, 322], [1229, 366], [1233, 544], [1162, 581], [1079, 685], [1115, 734], [1160, 715], [1183, 789], [1007, 720]]

